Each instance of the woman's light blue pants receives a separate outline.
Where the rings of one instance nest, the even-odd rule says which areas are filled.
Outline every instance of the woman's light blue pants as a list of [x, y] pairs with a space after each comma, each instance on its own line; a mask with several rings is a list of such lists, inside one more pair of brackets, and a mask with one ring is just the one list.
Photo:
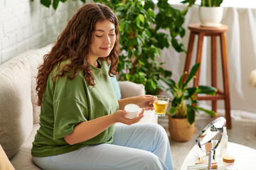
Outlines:
[[173, 169], [169, 138], [157, 124], [116, 125], [112, 144], [90, 145], [53, 157], [33, 157], [41, 169]]

